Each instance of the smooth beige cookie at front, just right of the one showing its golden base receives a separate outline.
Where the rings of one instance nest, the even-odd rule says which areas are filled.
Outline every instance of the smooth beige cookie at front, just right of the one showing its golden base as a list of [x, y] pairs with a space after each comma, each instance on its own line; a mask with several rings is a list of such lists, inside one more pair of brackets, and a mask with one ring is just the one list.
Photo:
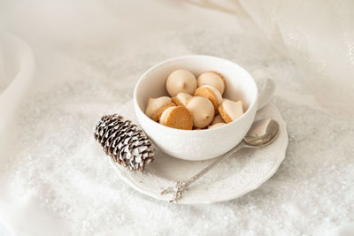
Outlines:
[[193, 126], [204, 128], [212, 123], [214, 118], [214, 106], [204, 96], [194, 96], [187, 101], [187, 109], [193, 118]]

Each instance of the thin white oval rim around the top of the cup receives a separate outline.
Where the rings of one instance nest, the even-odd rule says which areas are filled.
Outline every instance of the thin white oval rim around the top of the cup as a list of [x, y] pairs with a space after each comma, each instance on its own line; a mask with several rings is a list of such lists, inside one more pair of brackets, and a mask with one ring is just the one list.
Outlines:
[[[142, 110], [142, 108], [140, 107], [140, 105], [137, 103], [137, 88], [139, 88], [139, 85], [142, 83], [142, 80], [146, 77], [146, 75], [151, 72], [152, 70], [158, 68], [159, 66], [161, 65], [164, 65], [166, 63], [169, 63], [173, 60], [177, 60], [177, 59], [183, 59], [183, 58], [188, 58], [188, 57], [211, 57], [211, 58], [215, 58], [215, 59], [219, 59], [221, 61], [224, 61], [228, 64], [232, 64], [232, 65], [235, 65], [237, 67], [239, 67], [240, 69], [242, 69], [244, 72], [246, 72], [250, 78], [252, 79], [251, 80], [251, 83], [253, 84], [254, 88], [256, 89], [256, 98], [255, 100], [253, 101], [253, 103], [250, 103], [250, 106], [249, 108], [246, 110], [246, 112], [244, 112], [242, 114], [242, 116], [240, 118], [237, 118], [236, 120], [230, 122], [230, 123], [227, 123], [225, 126], [219, 126], [219, 127], [215, 127], [215, 128], [212, 128], [212, 129], [201, 129], [201, 130], [183, 130], [183, 129], [176, 129], [176, 128], [172, 128], [172, 127], [169, 127], [169, 126], [163, 126], [161, 124], [159, 124], [158, 122], [155, 122], [153, 121], [152, 119], [150, 119], [146, 114], [145, 112]], [[142, 118], [145, 118], [145, 119], [148, 119], [151, 124], [151, 126], [155, 126], [157, 128], [161, 128], [161, 129], [165, 129], [166, 132], [175, 132], [175, 133], [191, 133], [193, 131], [193, 133], [210, 133], [210, 132], [213, 132], [213, 131], [216, 131], [216, 130], [221, 130], [221, 129], [226, 129], [227, 127], [229, 126], [233, 126], [235, 125], [237, 122], [240, 122], [242, 119], [246, 118], [247, 117], [247, 114], [250, 113], [250, 110], [252, 110], [252, 108], [254, 108], [255, 106], [258, 105], [258, 87], [256, 85], [256, 82], [255, 80], [253, 79], [253, 77], [250, 75], [249, 72], [247, 72], [241, 65], [237, 65], [235, 62], [232, 62], [230, 60], [227, 60], [225, 58], [221, 58], [221, 57], [214, 57], [214, 56], [208, 56], [208, 55], [198, 55], [198, 54], [192, 54], [192, 55], [186, 55], [186, 56], [180, 56], [180, 57], [172, 57], [172, 58], [168, 58], [168, 59], [165, 59], [161, 62], [159, 62], [158, 64], [156, 65], [153, 65], [151, 66], [146, 72], [144, 72], [142, 74], [142, 76], [139, 78], [139, 80], [136, 82], [135, 84], [135, 88], [134, 88], [134, 95], [133, 95], [133, 100], [134, 100], [134, 106], [135, 106], [135, 110], [138, 110], [138, 112], [142, 113]]]

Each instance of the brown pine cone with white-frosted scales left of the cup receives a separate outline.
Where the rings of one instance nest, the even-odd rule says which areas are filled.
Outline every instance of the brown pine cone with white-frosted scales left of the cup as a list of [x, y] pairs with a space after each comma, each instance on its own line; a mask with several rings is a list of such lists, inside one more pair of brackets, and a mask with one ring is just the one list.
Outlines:
[[146, 134], [118, 114], [102, 117], [94, 135], [105, 154], [130, 171], [143, 171], [154, 160], [155, 150]]

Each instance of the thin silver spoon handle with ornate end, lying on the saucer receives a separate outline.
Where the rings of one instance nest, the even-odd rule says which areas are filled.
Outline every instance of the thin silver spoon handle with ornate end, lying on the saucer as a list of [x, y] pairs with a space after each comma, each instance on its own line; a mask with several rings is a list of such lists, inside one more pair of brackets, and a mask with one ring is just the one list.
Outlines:
[[173, 194], [173, 199], [170, 200], [170, 202], [177, 202], [182, 196], [182, 192], [187, 190], [187, 187], [189, 187], [192, 183], [196, 181], [196, 179], [201, 178], [206, 174], [207, 172], [211, 171], [217, 164], [221, 163], [227, 157], [233, 155], [236, 151], [239, 149], [245, 147], [245, 143], [242, 141], [240, 142], [235, 148], [232, 148], [225, 154], [224, 156], [219, 156], [216, 158], [215, 161], [213, 161], [211, 164], [206, 166], [202, 171], [197, 172], [192, 178], [186, 181], [177, 181], [174, 187], [167, 187], [165, 188], [160, 194]]

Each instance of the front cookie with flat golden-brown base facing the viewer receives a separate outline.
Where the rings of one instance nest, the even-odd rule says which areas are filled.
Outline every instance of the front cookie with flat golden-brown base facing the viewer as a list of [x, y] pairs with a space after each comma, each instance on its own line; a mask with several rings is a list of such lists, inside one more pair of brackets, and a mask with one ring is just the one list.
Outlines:
[[176, 129], [191, 130], [193, 127], [192, 115], [183, 106], [167, 108], [161, 115], [159, 123]]

